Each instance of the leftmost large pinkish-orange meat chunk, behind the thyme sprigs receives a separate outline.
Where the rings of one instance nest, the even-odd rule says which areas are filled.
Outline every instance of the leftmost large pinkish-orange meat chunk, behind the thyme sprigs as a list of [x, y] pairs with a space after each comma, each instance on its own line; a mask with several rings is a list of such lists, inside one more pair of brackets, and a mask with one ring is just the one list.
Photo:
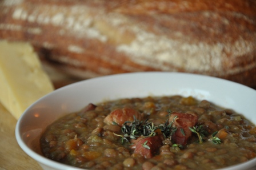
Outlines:
[[137, 110], [134, 110], [133, 108], [119, 108], [107, 115], [107, 117], [104, 119], [104, 123], [110, 125], [115, 122], [119, 126], [122, 126], [122, 124], [126, 121], [133, 122], [134, 116], [138, 120], [142, 119], [141, 113]]

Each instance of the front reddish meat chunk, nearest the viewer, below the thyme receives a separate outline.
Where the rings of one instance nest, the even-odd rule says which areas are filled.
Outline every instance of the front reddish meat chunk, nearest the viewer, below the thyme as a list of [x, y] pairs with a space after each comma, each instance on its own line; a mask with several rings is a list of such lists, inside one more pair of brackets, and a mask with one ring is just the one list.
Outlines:
[[139, 137], [137, 140], [134, 140], [134, 144], [131, 145], [131, 148], [135, 148], [134, 153], [148, 159], [157, 153], [158, 149], [162, 146], [162, 141], [162, 134], [152, 137]]

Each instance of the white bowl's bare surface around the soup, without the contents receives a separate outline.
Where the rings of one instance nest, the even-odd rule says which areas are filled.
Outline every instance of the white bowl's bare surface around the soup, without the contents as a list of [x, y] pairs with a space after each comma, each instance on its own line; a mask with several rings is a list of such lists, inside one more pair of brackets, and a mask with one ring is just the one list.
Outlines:
[[[20, 147], [43, 169], [80, 169], [42, 156], [39, 137], [60, 116], [106, 99], [162, 95], [194, 96], [231, 108], [256, 124], [256, 91], [223, 79], [177, 72], [138, 72], [84, 80], [59, 88], [37, 100], [18, 120], [15, 135]], [[255, 169], [256, 159], [228, 169]]]

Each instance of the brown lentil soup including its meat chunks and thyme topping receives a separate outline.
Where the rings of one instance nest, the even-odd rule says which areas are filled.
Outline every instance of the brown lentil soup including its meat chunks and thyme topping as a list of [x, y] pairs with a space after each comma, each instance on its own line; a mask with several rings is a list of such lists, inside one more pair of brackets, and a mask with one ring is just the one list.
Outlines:
[[256, 157], [256, 127], [191, 96], [119, 99], [57, 120], [41, 149], [85, 169], [217, 169]]

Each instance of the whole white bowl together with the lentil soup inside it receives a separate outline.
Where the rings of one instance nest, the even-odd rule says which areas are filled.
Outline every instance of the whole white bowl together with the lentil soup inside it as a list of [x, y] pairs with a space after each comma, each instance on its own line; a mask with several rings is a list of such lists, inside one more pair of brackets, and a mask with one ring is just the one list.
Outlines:
[[204, 75], [84, 80], [32, 104], [16, 137], [43, 169], [253, 169], [256, 91]]

